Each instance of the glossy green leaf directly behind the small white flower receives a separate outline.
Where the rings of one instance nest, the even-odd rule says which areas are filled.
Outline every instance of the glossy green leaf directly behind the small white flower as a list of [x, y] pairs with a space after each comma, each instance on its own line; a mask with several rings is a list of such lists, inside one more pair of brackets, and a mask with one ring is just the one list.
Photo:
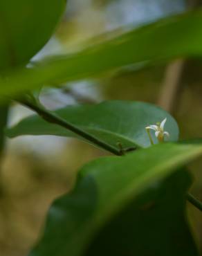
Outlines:
[[[113, 147], [148, 147], [149, 137], [145, 130], [148, 125], [155, 125], [167, 118], [165, 130], [169, 132], [169, 140], [178, 140], [178, 125], [172, 116], [153, 104], [132, 101], [109, 101], [96, 105], [77, 105], [56, 111], [58, 116], [71, 122], [96, 138]], [[152, 136], [156, 142], [154, 132]], [[31, 116], [6, 131], [10, 138], [20, 135], [77, 135], [42, 120], [39, 116]], [[78, 137], [79, 138], [79, 137]]]

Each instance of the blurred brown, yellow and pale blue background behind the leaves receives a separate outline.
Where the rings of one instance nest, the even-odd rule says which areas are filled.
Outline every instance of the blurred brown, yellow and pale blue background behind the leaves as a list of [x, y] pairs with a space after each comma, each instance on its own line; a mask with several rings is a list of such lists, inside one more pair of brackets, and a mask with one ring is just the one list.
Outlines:
[[[185, 0], [68, 0], [66, 14], [44, 49], [34, 57], [71, 53], [128, 28], [199, 8]], [[44, 88], [41, 101], [48, 109], [102, 100], [152, 102], [170, 111], [181, 138], [202, 137], [202, 60], [174, 60], [137, 70], [133, 66], [96, 80]], [[19, 105], [10, 109], [9, 125], [32, 112]], [[105, 152], [75, 139], [24, 136], [6, 141], [0, 188], [1, 256], [25, 256], [42, 232], [50, 203], [71, 189], [77, 170]], [[192, 193], [202, 200], [202, 159], [190, 166]], [[194, 236], [202, 249], [202, 214], [188, 206]]]

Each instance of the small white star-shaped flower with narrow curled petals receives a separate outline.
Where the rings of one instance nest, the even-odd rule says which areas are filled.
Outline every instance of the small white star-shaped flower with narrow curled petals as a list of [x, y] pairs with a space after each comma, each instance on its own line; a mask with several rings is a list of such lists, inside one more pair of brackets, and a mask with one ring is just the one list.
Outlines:
[[[162, 142], [164, 140], [164, 137], [167, 136], [169, 137], [169, 133], [167, 131], [164, 131], [164, 126], [165, 126], [165, 122], [166, 122], [167, 118], [165, 118], [162, 122], [157, 122], [156, 125], [149, 125], [146, 127], [146, 130], [149, 134], [149, 130], [154, 130], [155, 131], [155, 136], [156, 138], [158, 138], [159, 142]], [[152, 137], [149, 134], [149, 139], [151, 141], [152, 144], [153, 141], [151, 140]]]

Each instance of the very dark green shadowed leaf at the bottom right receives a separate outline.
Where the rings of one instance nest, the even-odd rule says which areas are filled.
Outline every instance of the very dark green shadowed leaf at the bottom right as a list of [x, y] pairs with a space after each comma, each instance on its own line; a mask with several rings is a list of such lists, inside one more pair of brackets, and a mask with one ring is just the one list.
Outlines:
[[152, 185], [102, 228], [85, 255], [199, 255], [185, 216], [189, 185], [185, 170]]

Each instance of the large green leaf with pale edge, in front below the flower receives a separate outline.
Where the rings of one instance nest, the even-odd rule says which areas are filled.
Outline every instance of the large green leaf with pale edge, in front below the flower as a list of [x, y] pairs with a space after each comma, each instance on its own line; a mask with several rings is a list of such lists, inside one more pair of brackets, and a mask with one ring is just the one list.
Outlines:
[[[74, 190], [53, 203], [44, 237], [30, 256], [83, 255], [104, 223], [138, 194], [201, 154], [202, 145], [162, 143], [85, 165]], [[178, 240], [174, 245], [178, 247]]]

